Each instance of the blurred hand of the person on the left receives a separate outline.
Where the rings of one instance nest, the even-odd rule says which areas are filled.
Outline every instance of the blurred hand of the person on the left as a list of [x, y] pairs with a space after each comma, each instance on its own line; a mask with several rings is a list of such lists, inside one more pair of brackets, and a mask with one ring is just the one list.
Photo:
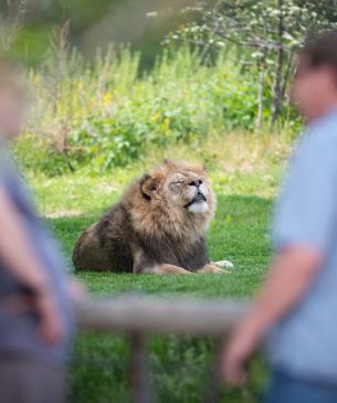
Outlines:
[[64, 337], [64, 328], [55, 298], [50, 291], [38, 293], [34, 297], [35, 311], [40, 318], [39, 333], [45, 344], [56, 344]]

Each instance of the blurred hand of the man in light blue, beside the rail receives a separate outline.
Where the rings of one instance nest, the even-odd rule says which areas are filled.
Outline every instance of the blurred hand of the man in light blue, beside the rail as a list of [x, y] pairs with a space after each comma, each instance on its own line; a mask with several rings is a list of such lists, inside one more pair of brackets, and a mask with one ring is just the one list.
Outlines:
[[248, 378], [246, 363], [256, 350], [260, 338], [248, 328], [240, 328], [222, 353], [222, 372], [225, 381], [242, 386]]

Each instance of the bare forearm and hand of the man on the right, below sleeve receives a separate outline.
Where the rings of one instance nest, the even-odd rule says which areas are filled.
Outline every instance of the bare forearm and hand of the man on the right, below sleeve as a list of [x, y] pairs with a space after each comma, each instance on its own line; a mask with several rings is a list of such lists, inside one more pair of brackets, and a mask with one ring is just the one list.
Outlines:
[[320, 267], [323, 256], [307, 246], [292, 246], [276, 256], [253, 307], [235, 330], [223, 357], [228, 381], [245, 380], [245, 362], [265, 333], [302, 299]]

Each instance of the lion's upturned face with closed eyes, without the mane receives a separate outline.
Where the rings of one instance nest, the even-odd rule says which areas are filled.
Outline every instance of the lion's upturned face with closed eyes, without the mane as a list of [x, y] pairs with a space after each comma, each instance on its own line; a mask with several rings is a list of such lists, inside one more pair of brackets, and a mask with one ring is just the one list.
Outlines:
[[148, 174], [143, 191], [152, 203], [162, 203], [188, 214], [211, 214], [214, 195], [206, 171], [188, 163], [166, 161]]

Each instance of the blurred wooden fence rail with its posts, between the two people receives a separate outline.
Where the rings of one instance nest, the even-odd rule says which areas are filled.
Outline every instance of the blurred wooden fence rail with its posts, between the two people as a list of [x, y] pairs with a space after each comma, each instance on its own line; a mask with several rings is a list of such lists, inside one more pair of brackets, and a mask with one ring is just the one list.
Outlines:
[[[78, 326], [85, 330], [125, 333], [130, 344], [133, 403], [152, 403], [145, 347], [149, 335], [217, 336], [224, 338], [245, 312], [246, 304], [230, 300], [129, 296], [83, 303]], [[219, 353], [210, 369], [204, 402], [219, 402]]]

